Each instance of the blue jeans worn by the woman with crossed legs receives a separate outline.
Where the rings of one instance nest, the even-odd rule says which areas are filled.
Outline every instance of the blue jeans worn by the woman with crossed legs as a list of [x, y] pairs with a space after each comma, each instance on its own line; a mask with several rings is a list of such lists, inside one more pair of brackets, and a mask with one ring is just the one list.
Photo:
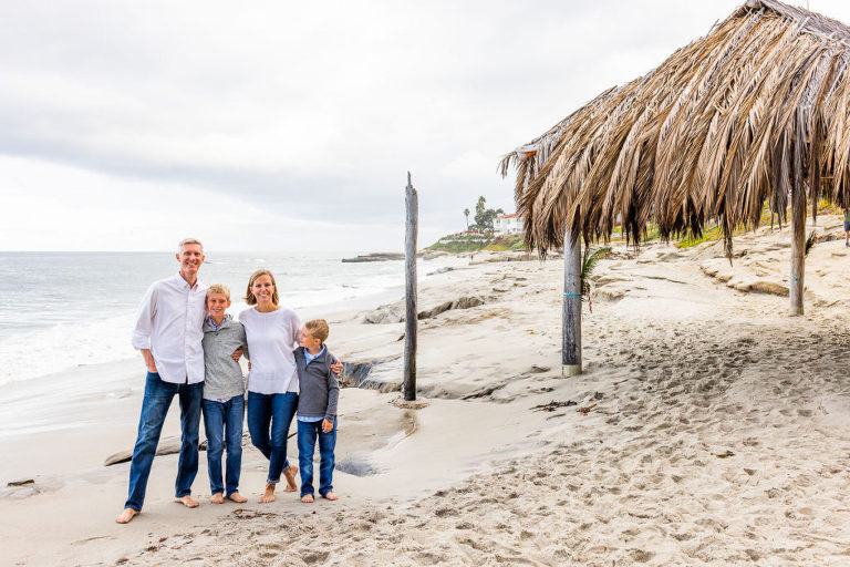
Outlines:
[[298, 394], [260, 394], [248, 392], [248, 431], [251, 443], [269, 460], [268, 484], [280, 482], [280, 473], [289, 468], [287, 437], [298, 409]]

